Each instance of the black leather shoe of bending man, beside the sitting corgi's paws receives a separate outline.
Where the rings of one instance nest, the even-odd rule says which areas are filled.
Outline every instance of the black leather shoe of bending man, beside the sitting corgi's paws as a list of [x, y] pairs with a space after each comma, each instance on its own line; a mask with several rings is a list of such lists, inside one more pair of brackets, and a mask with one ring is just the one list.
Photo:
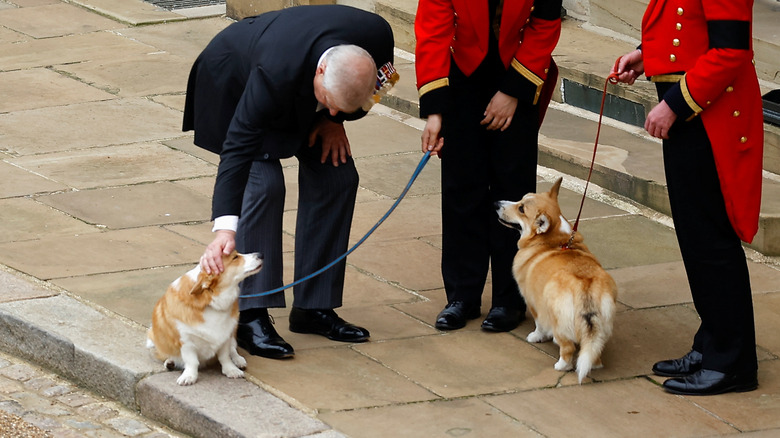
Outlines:
[[241, 312], [236, 331], [238, 346], [253, 356], [284, 359], [295, 354], [292, 346], [276, 333], [268, 309]]

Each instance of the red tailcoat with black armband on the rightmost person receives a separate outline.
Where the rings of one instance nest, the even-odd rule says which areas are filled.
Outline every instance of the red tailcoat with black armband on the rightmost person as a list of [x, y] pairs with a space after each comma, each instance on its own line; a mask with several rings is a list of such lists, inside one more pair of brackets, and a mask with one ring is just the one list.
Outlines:
[[678, 117], [702, 118], [726, 212], [746, 242], [758, 230], [764, 144], [752, 9], [752, 0], [650, 0], [642, 19], [645, 74], [679, 81], [664, 100]]

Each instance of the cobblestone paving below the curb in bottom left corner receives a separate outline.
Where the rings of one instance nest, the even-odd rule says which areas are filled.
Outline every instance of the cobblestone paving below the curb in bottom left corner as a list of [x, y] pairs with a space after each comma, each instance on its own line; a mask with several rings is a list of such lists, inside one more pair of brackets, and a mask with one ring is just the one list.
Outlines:
[[125, 406], [0, 353], [2, 438], [182, 438]]

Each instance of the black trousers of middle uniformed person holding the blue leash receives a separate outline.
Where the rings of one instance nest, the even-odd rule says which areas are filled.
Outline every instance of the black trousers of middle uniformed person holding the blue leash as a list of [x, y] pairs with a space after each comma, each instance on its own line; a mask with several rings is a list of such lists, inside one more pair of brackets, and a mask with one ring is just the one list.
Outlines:
[[[457, 70], [454, 67], [453, 70]], [[493, 203], [536, 190], [538, 106], [518, 104], [506, 131], [480, 125], [498, 81], [460, 77], [443, 114], [442, 276], [447, 301], [479, 304], [488, 268], [493, 307], [525, 309], [512, 275], [519, 234], [498, 222]]]

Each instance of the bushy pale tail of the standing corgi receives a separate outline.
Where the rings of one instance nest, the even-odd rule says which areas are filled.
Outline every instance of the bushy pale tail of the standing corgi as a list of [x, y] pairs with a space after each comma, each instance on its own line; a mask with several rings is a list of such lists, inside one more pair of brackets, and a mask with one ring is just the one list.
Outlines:
[[601, 352], [612, 334], [612, 315], [614, 303], [604, 297], [600, 303], [594, 302], [588, 294], [583, 294], [582, 313], [577, 318], [580, 333], [580, 352], [577, 357], [577, 378], [579, 383], [594, 367], [601, 366]]

